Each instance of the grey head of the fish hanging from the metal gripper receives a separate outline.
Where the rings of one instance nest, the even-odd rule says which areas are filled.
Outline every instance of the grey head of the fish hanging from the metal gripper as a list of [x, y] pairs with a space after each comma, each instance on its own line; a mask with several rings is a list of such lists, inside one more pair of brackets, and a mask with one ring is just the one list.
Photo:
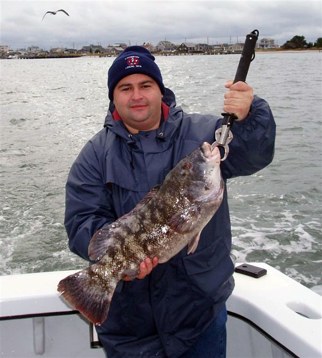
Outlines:
[[190, 202], [210, 202], [222, 199], [223, 180], [218, 147], [204, 142], [178, 164], [177, 180], [181, 195]]

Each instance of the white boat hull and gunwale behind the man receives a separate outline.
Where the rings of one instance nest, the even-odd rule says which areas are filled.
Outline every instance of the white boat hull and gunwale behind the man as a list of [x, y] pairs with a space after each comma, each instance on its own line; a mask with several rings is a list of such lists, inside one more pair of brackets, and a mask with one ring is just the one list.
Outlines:
[[[320, 358], [321, 296], [269, 265], [255, 265], [267, 275], [234, 274], [227, 357]], [[73, 272], [1, 277], [1, 357], [106, 357], [91, 347], [89, 322], [56, 291]]]

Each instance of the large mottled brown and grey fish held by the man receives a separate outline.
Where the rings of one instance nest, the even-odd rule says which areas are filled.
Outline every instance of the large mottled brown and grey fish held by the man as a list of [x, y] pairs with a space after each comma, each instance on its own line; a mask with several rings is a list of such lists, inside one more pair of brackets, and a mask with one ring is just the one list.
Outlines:
[[186, 245], [197, 249], [200, 232], [221, 204], [218, 147], [209, 143], [183, 158], [128, 214], [98, 230], [89, 256], [98, 261], [58, 284], [62, 297], [96, 325], [102, 324], [119, 280], [135, 278], [145, 258], [167, 262]]

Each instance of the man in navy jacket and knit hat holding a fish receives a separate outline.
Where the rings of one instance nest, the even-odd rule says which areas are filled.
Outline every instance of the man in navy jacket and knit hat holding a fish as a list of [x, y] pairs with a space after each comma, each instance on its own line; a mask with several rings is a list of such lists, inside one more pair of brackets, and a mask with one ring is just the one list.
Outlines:
[[[225, 85], [224, 107], [237, 115], [226, 179], [250, 175], [273, 158], [275, 123], [246, 83]], [[65, 227], [70, 250], [89, 260], [93, 234], [129, 212], [181, 158], [214, 142], [221, 118], [176, 107], [154, 57], [143, 47], [124, 50], [108, 74], [110, 108], [104, 129], [83, 148], [66, 184]], [[224, 357], [225, 302], [233, 289], [230, 220], [222, 204], [203, 229], [198, 248], [165, 264], [146, 258], [134, 280], [114, 293], [108, 318], [97, 327], [109, 358]]]

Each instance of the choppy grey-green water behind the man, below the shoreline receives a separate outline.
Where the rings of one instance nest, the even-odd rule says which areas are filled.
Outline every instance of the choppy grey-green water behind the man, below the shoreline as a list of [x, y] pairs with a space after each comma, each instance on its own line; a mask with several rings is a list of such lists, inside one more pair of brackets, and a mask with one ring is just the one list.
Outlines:
[[[248, 83], [277, 122], [273, 163], [228, 182], [233, 246], [321, 288], [321, 53], [259, 53]], [[103, 125], [113, 58], [1, 61], [1, 274], [80, 269], [63, 227], [64, 185]], [[239, 55], [157, 57], [188, 112], [219, 114]]]

